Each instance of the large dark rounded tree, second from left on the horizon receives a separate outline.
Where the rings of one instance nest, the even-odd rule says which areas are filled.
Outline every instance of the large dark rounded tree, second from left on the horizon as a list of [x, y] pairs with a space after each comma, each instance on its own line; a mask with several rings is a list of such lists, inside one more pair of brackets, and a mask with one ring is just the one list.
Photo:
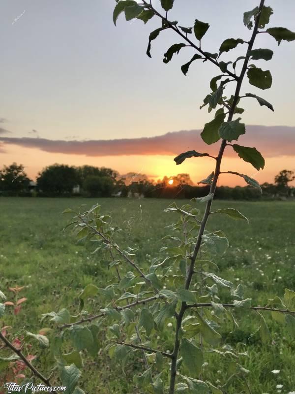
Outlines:
[[48, 195], [72, 193], [79, 177], [75, 167], [53, 164], [43, 169], [37, 178], [37, 190]]

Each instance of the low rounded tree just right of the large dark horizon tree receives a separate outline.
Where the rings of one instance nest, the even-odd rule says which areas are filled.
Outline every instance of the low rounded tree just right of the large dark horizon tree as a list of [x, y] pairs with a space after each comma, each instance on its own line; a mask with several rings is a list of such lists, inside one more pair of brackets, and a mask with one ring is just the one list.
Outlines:
[[83, 182], [83, 189], [89, 197], [110, 197], [115, 190], [115, 182], [110, 176], [89, 175]]

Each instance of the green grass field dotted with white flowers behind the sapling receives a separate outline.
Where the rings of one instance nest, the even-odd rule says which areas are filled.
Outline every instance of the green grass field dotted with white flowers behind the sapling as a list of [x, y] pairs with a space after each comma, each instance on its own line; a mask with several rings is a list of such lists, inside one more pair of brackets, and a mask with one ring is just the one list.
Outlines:
[[[12, 298], [8, 287], [26, 286], [20, 295], [28, 298], [17, 316], [5, 315], [5, 325], [13, 326], [14, 333], [37, 332], [42, 328], [42, 313], [68, 307], [87, 284], [105, 286], [109, 278], [106, 264], [99, 256], [91, 255], [87, 247], [77, 244], [71, 231], [62, 231], [68, 219], [61, 215], [65, 208], [77, 208], [82, 203], [89, 208], [96, 202], [102, 205], [103, 212], [112, 213], [113, 221], [125, 230], [123, 242], [136, 246], [137, 260], [148, 266], [162, 246], [161, 238], [167, 234], [164, 227], [176, 219], [173, 214], [163, 213], [170, 200], [0, 198], [0, 290]], [[234, 207], [250, 220], [248, 226], [221, 215], [210, 218], [209, 229], [223, 230], [230, 241], [226, 255], [216, 261], [219, 275], [242, 282], [245, 297], [251, 297], [253, 305], [265, 305], [269, 298], [283, 296], [285, 288], [295, 290], [295, 202], [214, 204]], [[103, 306], [99, 301], [98, 305]], [[243, 365], [250, 369], [252, 394], [277, 393], [276, 385], [283, 385], [281, 393], [295, 392], [295, 341], [267, 314], [266, 318], [273, 337], [271, 344], [262, 345], [254, 312], [243, 318], [234, 333], [224, 335], [223, 341], [242, 351], [245, 348], [240, 343], [248, 344], [249, 357]], [[35, 364], [45, 371], [47, 361], [42, 354]], [[95, 360], [89, 359], [85, 364], [87, 379], [83, 378], [79, 386], [87, 394], [134, 394], [133, 368], [138, 369], [138, 363], [128, 364], [124, 376], [120, 367], [100, 352]], [[212, 383], [227, 373], [217, 358], [212, 358], [209, 368], [212, 372], [208, 379]], [[271, 372], [275, 369], [280, 373]], [[243, 392], [240, 386], [235, 390], [228, 393]]]

